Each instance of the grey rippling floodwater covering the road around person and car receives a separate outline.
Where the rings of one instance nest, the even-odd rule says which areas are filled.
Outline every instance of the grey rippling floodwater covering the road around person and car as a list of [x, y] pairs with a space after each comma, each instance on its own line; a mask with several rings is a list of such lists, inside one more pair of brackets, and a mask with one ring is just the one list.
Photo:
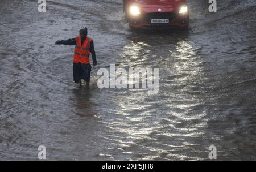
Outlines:
[[[188, 31], [131, 32], [121, 0], [0, 2], [0, 160], [256, 160], [256, 1], [188, 1]], [[73, 83], [88, 27], [98, 65]], [[100, 68], [159, 68], [159, 92], [99, 89]]]

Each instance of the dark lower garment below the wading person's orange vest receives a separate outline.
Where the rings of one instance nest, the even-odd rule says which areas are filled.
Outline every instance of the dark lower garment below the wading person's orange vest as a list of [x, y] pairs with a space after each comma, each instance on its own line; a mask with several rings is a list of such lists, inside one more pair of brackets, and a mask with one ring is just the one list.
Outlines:
[[84, 79], [86, 82], [90, 82], [90, 71], [92, 66], [84, 63], [73, 63], [73, 78], [75, 83], [79, 83], [80, 79]]

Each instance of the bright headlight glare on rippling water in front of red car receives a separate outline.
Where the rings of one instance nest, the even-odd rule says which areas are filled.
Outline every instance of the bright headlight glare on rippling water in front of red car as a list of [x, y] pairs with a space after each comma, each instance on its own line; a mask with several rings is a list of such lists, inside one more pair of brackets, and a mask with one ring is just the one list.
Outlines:
[[[200, 127], [207, 125], [205, 122], [201, 123], [200, 127], [192, 125], [191, 121], [200, 121], [206, 114], [205, 111], [200, 114], [189, 113], [193, 107], [203, 102], [191, 95], [189, 88], [184, 88], [191, 84], [191, 80], [200, 78], [200, 67], [196, 68], [201, 63], [200, 56], [196, 55], [189, 44], [189, 34], [160, 33], [150, 37], [151, 33], [135, 33], [136, 36], [130, 36], [131, 44], [122, 49], [122, 65], [137, 67], [142, 63], [143, 67], [159, 67], [160, 74], [164, 73], [160, 76], [160, 92], [155, 96], [147, 96], [134, 91], [132, 94], [115, 97], [114, 101], [119, 106], [119, 115], [115, 117], [118, 122], [109, 122], [109, 125], [112, 128], [122, 128], [118, 130], [119, 136], [127, 135], [116, 140], [121, 140], [119, 147], [124, 147], [125, 153], [130, 152], [133, 155], [131, 160], [140, 157], [154, 160], [159, 156], [167, 160], [174, 157], [197, 159], [193, 156], [174, 154], [179, 154], [177, 152], [180, 152], [181, 148], [192, 149], [195, 145], [188, 142], [177, 143], [176, 137], [179, 137], [178, 140], [189, 137], [199, 139], [204, 135], [204, 130], [200, 130]], [[166, 45], [170, 45], [170, 48], [166, 49]], [[195, 68], [197, 73], [193, 71]], [[174, 77], [170, 80], [171, 76]], [[123, 145], [127, 138], [131, 139], [130, 144]], [[180, 149], [171, 149], [173, 147]]]

